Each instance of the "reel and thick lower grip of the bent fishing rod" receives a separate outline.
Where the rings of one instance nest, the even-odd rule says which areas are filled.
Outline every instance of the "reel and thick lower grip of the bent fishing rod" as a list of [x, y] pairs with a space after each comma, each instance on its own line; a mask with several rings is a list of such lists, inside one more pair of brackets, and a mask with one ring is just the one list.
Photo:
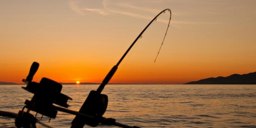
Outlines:
[[103, 122], [104, 124], [114, 124], [115, 119], [109, 118], [102, 120], [102, 116], [108, 107], [108, 96], [105, 94], [101, 94], [101, 91], [111, 79], [111, 77], [114, 75], [116, 70], [117, 66], [114, 66], [109, 71], [101, 85], [98, 87], [97, 91], [92, 90], [89, 93], [88, 97], [86, 98], [82, 107], [79, 110], [80, 113], [89, 114], [91, 116], [94, 116], [95, 118], [84, 119], [83, 117], [78, 115], [75, 117], [75, 119], [73, 119], [71, 128], [83, 128], [84, 124], [95, 127], [98, 126], [100, 122]]

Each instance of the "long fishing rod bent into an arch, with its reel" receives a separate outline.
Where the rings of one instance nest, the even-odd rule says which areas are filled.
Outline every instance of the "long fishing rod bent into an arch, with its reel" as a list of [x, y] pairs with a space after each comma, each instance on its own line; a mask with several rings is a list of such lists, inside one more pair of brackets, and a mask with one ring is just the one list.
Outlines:
[[[117, 70], [119, 64], [122, 62], [123, 58], [125, 58], [127, 53], [131, 50], [133, 45], [137, 42], [137, 40], [142, 37], [142, 34], [144, 33], [144, 31], [147, 30], [147, 28], [151, 25], [151, 23], [153, 21], [155, 21], [157, 19], [157, 17], [159, 15], [165, 13], [165, 11], [170, 12], [169, 23], [168, 23], [168, 26], [167, 26], [167, 29], [166, 29], [165, 35], [164, 35], [164, 39], [165, 39], [168, 28], [170, 26], [170, 20], [171, 20], [171, 16], [172, 16], [172, 11], [170, 9], [164, 9], [158, 15], [156, 15], [150, 21], [150, 23], [148, 23], [148, 25], [142, 30], [142, 32], [137, 36], [137, 38], [133, 41], [133, 43], [130, 45], [130, 47], [126, 50], [126, 52], [123, 54], [123, 56], [117, 62], [117, 64], [114, 67], [112, 67], [112, 69], [109, 71], [109, 73], [103, 79], [103, 81], [100, 84], [100, 86], [98, 87], [97, 91], [91, 91], [89, 93], [88, 97], [86, 98], [83, 105], [81, 106], [79, 112], [84, 113], [84, 114], [98, 116], [98, 117], [101, 117], [105, 113], [107, 106], [108, 106], [108, 96], [105, 94], [100, 94], [100, 93], [103, 91], [106, 84], [108, 84], [109, 80], [112, 78], [112, 76], [116, 72], [116, 70]], [[164, 43], [164, 39], [162, 40], [161, 47]], [[158, 54], [161, 50], [161, 47], [158, 50]], [[156, 55], [156, 58], [158, 57], [158, 54]], [[156, 58], [155, 58], [155, 61], [156, 61]], [[84, 120], [83, 117], [76, 116], [75, 119], [73, 119], [73, 121], [72, 121], [71, 128], [83, 128], [84, 124], [87, 124], [89, 126], [97, 126], [98, 123], [99, 123], [98, 120], [95, 120], [95, 119], [94, 120], [91, 120], [91, 119]], [[136, 126], [134, 126], [134, 127], [136, 127]]]

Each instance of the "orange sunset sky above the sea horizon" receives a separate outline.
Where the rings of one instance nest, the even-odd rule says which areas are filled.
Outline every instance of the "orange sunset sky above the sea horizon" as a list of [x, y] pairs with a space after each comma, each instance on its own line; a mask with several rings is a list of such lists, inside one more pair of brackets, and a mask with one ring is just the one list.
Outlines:
[[0, 81], [100, 83], [156, 14], [110, 83], [186, 83], [256, 71], [255, 0], [0, 1]]

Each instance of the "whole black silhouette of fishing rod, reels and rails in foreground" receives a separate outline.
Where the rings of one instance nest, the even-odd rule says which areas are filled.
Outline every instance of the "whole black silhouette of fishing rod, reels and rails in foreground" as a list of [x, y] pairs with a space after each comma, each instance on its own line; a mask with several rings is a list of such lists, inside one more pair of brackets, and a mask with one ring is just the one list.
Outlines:
[[[42, 117], [47, 116], [47, 117], [50, 117], [51, 119], [56, 117], [58, 111], [76, 115], [75, 119], [72, 121], [71, 128], [83, 128], [84, 124], [95, 127], [95, 126], [98, 126], [99, 123], [102, 123], [105, 125], [115, 125], [123, 128], [139, 128], [137, 126], [128, 126], [122, 123], [117, 123], [116, 120], [112, 118], [103, 117], [103, 114], [105, 113], [108, 106], [108, 96], [105, 94], [101, 94], [101, 92], [104, 89], [105, 85], [108, 84], [109, 80], [112, 78], [112, 76], [116, 72], [117, 67], [122, 62], [123, 58], [125, 58], [126, 54], [130, 51], [130, 49], [137, 42], [137, 40], [142, 37], [142, 34], [144, 33], [144, 31], [151, 25], [153, 21], [156, 21], [156, 18], [160, 14], [165, 13], [165, 11], [170, 12], [170, 19], [169, 19], [168, 27], [165, 32], [165, 36], [166, 36], [169, 25], [170, 25], [171, 15], [172, 15], [172, 12], [170, 9], [165, 9], [161, 11], [153, 20], [151, 20], [151, 22], [144, 28], [144, 30], [142, 30], [142, 32], [139, 34], [139, 36], [137, 36], [137, 38], [131, 44], [128, 50], [126, 50], [126, 52], [123, 54], [121, 59], [117, 62], [117, 64], [114, 67], [112, 67], [112, 69], [106, 75], [106, 77], [98, 87], [97, 91], [92, 90], [89, 93], [88, 97], [86, 98], [83, 105], [81, 106], [81, 109], [79, 112], [66, 109], [69, 107], [69, 105], [67, 104], [67, 101], [72, 99], [67, 95], [64, 95], [61, 93], [62, 85], [59, 84], [58, 82], [55, 82], [48, 78], [42, 78], [40, 83], [32, 82], [33, 76], [39, 67], [39, 64], [37, 62], [33, 62], [27, 78], [22, 80], [23, 82], [27, 83], [27, 86], [22, 88], [33, 93], [34, 96], [32, 97], [31, 100], [25, 101], [25, 106], [21, 111], [19, 111], [18, 114], [15, 114], [12, 112], [0, 111], [0, 116], [15, 118], [16, 119], [15, 126], [17, 126], [18, 128], [21, 128], [21, 127], [36, 128], [36, 123], [39, 123], [47, 128], [52, 128], [51, 126], [48, 126], [40, 122], [38, 119], [36, 119], [37, 113], [42, 114]], [[165, 36], [164, 36], [164, 39], [165, 39]], [[159, 48], [156, 58], [159, 55], [161, 47], [164, 43], [164, 39], [162, 40], [162, 44]], [[155, 58], [155, 61], [156, 61], [156, 58]], [[53, 105], [53, 103], [65, 108], [55, 106]], [[27, 108], [26, 112], [24, 111], [25, 108]], [[36, 112], [35, 117], [29, 113], [30, 110]]]

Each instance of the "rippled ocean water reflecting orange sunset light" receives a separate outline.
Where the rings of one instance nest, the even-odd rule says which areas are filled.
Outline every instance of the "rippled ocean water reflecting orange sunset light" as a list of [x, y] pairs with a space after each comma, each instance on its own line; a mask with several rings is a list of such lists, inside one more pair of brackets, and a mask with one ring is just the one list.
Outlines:
[[[63, 85], [62, 93], [73, 98], [68, 102], [69, 109], [78, 111], [89, 92], [97, 87]], [[256, 128], [256, 85], [107, 85], [102, 93], [109, 98], [103, 116], [126, 125]], [[0, 85], [0, 110], [17, 113], [32, 96], [20, 85]], [[69, 128], [74, 117], [58, 112], [50, 123], [48, 117], [43, 117], [42, 122], [56, 128]], [[0, 116], [0, 127], [14, 127], [14, 119]], [[41, 127], [37, 124], [37, 128]]]

